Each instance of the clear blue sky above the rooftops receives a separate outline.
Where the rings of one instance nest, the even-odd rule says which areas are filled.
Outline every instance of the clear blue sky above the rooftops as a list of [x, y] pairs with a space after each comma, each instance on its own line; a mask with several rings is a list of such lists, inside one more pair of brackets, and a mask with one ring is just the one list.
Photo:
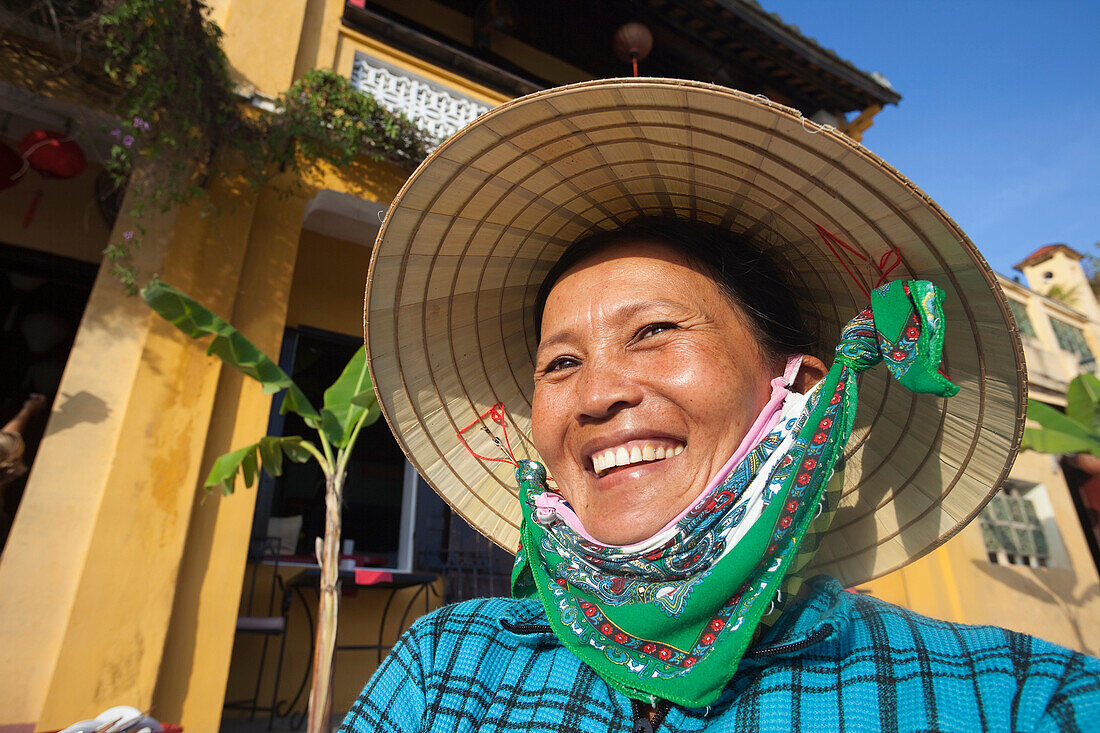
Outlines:
[[993, 269], [1100, 242], [1100, 2], [760, 0], [902, 95], [864, 144]]

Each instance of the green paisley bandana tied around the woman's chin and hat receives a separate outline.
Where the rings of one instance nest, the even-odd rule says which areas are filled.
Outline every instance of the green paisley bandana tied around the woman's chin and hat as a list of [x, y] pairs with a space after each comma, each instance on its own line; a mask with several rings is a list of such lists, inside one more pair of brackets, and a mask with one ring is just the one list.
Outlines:
[[[653, 537], [604, 545], [584, 532], [546, 469], [521, 461], [521, 546], [513, 595], [538, 595], [561, 643], [629, 698], [711, 704], [754, 633], [791, 597], [832, 518], [832, 481], [856, 416], [856, 375], [880, 361], [903, 386], [949, 397], [939, 371], [943, 293], [895, 281], [845, 327], [828, 375], [782, 392], [703, 494]], [[781, 405], [779, 404], [781, 403]], [[778, 419], [774, 417], [778, 412]], [[765, 429], [759, 429], [761, 426]], [[832, 485], [833, 489], [828, 489]]]

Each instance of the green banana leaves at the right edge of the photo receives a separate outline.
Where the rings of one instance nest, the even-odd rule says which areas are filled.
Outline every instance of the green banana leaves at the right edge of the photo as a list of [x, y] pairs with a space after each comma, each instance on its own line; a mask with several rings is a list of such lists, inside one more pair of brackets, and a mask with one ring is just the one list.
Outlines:
[[1066, 412], [1035, 400], [1027, 401], [1023, 447], [1043, 453], [1087, 453], [1100, 458], [1100, 379], [1081, 374], [1066, 391]]

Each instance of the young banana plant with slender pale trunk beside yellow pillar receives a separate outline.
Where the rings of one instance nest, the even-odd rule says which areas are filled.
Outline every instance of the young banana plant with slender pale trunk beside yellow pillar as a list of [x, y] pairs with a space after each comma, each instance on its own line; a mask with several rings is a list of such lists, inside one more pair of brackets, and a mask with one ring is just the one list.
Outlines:
[[316, 441], [300, 436], [268, 436], [232, 450], [213, 462], [205, 485], [207, 490], [220, 488], [223, 494], [231, 494], [238, 475], [250, 488], [260, 470], [272, 477], [282, 474], [284, 458], [299, 463], [312, 458], [320, 464], [324, 474], [324, 538], [318, 537], [315, 548], [321, 578], [308, 732], [321, 733], [328, 727], [332, 709], [332, 660], [339, 613], [340, 505], [348, 460], [360, 430], [381, 415], [366, 369], [366, 355], [360, 347], [337, 381], [324, 391], [324, 402], [318, 411], [277, 363], [193, 298], [158, 280], [146, 285], [141, 296], [157, 315], [190, 338], [212, 337], [208, 354], [260, 382], [264, 393], [282, 392], [282, 413], [300, 415], [317, 434]]

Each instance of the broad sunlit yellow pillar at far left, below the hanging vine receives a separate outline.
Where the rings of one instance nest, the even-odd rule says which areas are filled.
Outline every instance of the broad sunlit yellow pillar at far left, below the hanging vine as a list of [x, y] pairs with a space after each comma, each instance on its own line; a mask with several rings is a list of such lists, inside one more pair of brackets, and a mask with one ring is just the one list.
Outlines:
[[[139, 260], [228, 313], [254, 197], [229, 184], [211, 197], [222, 216], [162, 218]], [[0, 559], [0, 731], [147, 708], [161, 665], [220, 363], [108, 270], [59, 389], [85, 409], [51, 416]]]

